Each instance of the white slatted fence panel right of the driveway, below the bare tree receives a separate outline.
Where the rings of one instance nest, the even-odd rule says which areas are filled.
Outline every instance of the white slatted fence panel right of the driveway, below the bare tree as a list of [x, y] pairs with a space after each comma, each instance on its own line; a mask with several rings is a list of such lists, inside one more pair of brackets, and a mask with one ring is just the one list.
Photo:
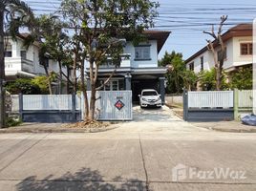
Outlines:
[[232, 108], [233, 91], [188, 92], [188, 108]]

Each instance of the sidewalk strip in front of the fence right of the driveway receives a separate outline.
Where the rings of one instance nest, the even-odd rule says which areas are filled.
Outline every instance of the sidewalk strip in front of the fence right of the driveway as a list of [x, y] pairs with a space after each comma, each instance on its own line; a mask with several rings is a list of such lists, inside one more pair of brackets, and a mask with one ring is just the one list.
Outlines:
[[241, 121], [190, 122], [197, 127], [232, 133], [256, 133], [256, 127], [242, 124]]

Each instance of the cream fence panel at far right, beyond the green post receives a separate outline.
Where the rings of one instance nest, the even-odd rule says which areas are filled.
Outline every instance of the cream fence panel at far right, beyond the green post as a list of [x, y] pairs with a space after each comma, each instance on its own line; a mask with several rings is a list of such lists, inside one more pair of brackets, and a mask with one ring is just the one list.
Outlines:
[[253, 92], [252, 90], [243, 90], [238, 92], [238, 107], [252, 108], [253, 106]]

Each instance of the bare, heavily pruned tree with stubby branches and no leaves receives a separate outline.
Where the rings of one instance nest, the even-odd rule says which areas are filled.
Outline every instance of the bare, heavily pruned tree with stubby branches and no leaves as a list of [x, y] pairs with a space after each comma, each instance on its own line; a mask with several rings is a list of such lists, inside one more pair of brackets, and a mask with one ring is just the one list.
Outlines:
[[[206, 40], [208, 45], [208, 50], [211, 51], [214, 57], [214, 67], [216, 70], [216, 90], [220, 91], [222, 87], [222, 81], [223, 81], [223, 69], [224, 69], [224, 58], [225, 58], [225, 45], [222, 37], [223, 32], [223, 26], [224, 22], [227, 19], [227, 15], [223, 15], [221, 17], [221, 23], [219, 25], [218, 32], [216, 34], [214, 30], [214, 26], [212, 26], [211, 32], [203, 32], [209, 34], [211, 37], [213, 37], [214, 41]], [[217, 52], [216, 47], [220, 46], [220, 50]]]

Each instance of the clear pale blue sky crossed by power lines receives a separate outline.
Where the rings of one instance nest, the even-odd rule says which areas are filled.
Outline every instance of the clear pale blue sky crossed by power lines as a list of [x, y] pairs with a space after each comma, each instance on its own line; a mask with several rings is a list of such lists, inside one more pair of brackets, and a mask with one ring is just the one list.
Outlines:
[[[49, 13], [58, 9], [60, 0], [24, 0], [35, 13]], [[155, 1], [155, 0], [154, 0]], [[216, 28], [222, 15], [228, 15], [224, 31], [240, 23], [252, 23], [256, 18], [255, 0], [159, 0], [159, 16], [154, 30], [171, 32], [162, 47], [159, 58], [165, 52], [182, 53], [186, 59], [198, 52], [210, 39], [203, 31]]]

